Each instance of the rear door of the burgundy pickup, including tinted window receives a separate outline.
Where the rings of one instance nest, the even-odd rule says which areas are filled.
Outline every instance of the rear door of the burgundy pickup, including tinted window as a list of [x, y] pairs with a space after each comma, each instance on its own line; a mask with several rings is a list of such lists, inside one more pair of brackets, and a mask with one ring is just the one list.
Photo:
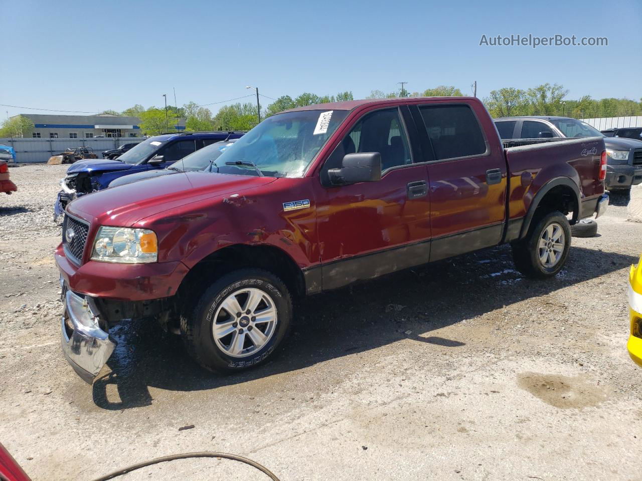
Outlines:
[[499, 244], [503, 235], [506, 162], [503, 151], [492, 153], [473, 108], [481, 107], [455, 102], [412, 107], [433, 153], [426, 158], [431, 261]]

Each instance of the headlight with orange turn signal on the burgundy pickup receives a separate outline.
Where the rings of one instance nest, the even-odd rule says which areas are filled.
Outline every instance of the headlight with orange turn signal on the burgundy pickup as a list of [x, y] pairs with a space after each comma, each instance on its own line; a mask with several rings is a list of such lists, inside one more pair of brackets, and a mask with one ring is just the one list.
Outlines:
[[158, 259], [156, 234], [147, 229], [101, 226], [96, 234], [92, 260], [146, 264]]

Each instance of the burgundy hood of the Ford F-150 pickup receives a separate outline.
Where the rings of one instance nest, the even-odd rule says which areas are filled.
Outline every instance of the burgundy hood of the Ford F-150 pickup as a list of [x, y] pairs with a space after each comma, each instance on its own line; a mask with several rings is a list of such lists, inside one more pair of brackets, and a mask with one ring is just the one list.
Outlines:
[[150, 215], [275, 181], [273, 177], [182, 172], [100, 190], [67, 206], [69, 214], [101, 225], [131, 226]]

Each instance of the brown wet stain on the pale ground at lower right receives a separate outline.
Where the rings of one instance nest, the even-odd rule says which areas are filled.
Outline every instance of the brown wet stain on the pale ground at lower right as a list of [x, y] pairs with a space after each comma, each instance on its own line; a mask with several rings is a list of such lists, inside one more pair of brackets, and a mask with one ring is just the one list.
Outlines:
[[607, 399], [606, 389], [589, 384], [584, 376], [519, 373], [517, 385], [559, 409], [583, 409], [596, 406]]

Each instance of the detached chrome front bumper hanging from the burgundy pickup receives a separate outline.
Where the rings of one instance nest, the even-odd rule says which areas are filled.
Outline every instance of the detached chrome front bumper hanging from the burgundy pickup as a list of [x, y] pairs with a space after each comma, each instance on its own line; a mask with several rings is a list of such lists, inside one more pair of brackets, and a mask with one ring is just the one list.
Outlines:
[[116, 347], [108, 333], [98, 326], [94, 310], [87, 300], [73, 292], [67, 291], [65, 294], [62, 352], [78, 376], [89, 384], [98, 376]]

